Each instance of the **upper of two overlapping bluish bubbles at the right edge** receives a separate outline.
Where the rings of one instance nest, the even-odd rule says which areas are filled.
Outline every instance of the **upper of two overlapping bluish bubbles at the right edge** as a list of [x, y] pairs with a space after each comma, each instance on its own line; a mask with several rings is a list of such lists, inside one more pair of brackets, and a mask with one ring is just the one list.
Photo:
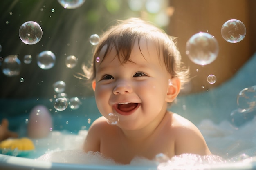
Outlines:
[[239, 108], [252, 109], [256, 106], [256, 86], [244, 88], [238, 93], [236, 102]]

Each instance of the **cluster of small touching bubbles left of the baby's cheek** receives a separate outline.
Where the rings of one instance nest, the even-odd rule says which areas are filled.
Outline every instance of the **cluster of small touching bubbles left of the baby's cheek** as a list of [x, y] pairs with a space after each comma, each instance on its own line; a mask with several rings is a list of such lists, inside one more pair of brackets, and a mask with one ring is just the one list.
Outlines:
[[78, 109], [81, 105], [80, 99], [78, 97], [67, 98], [66, 93], [63, 93], [66, 88], [66, 83], [63, 81], [57, 81], [53, 84], [54, 91], [60, 94], [54, 101], [54, 108], [58, 111], [63, 111], [69, 106], [71, 109]]

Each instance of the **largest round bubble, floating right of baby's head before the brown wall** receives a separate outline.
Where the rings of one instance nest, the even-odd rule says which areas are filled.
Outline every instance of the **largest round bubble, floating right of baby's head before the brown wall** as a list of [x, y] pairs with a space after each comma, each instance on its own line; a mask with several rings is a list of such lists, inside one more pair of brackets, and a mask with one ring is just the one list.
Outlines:
[[218, 42], [209, 33], [197, 33], [186, 42], [186, 54], [198, 65], [210, 64], [216, 59], [218, 52]]

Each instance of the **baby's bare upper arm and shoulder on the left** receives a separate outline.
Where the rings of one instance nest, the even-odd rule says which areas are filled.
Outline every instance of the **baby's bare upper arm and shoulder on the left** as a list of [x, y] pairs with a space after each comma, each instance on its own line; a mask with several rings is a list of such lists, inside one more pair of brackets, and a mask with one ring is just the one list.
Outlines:
[[106, 119], [100, 117], [97, 120], [95, 120], [90, 126], [83, 145], [83, 150], [85, 152], [100, 152], [100, 136], [103, 130], [101, 125], [103, 121], [106, 122]]

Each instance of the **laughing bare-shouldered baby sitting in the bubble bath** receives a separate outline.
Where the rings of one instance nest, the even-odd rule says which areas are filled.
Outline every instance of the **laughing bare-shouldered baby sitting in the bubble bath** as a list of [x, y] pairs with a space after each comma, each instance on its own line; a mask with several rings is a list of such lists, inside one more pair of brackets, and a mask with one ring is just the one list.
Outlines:
[[[120, 21], [101, 36], [92, 67], [83, 70], [103, 115], [88, 130], [85, 152], [122, 164], [159, 153], [211, 154], [198, 128], [167, 110], [189, 70], [172, 38], [157, 26], [139, 18]], [[108, 124], [109, 113], [119, 118], [117, 124]]]

